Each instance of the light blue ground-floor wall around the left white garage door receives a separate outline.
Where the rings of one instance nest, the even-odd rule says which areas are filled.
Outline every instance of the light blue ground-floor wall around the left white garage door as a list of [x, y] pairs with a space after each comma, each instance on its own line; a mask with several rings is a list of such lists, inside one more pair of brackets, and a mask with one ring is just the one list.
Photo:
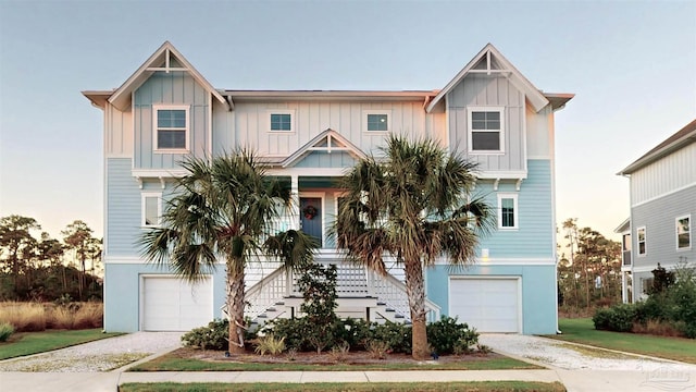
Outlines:
[[[172, 274], [167, 267], [146, 264], [107, 264], [104, 266], [104, 330], [135, 332], [140, 329], [140, 275]], [[225, 304], [225, 271], [212, 271], [213, 315], [221, 317]]]

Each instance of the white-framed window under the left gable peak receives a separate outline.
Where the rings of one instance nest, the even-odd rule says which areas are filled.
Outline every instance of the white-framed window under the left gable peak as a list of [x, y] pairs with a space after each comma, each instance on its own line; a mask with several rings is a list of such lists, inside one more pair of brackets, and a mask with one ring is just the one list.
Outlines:
[[154, 150], [158, 152], [188, 151], [189, 107], [152, 106]]

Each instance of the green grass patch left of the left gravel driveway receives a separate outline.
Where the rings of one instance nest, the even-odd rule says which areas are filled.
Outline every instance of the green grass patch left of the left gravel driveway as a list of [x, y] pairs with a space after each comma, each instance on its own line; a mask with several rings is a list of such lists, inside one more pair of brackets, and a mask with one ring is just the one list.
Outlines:
[[17, 332], [8, 342], [0, 343], [0, 360], [52, 350], [69, 347], [122, 333], [102, 333], [101, 329], [75, 331]]

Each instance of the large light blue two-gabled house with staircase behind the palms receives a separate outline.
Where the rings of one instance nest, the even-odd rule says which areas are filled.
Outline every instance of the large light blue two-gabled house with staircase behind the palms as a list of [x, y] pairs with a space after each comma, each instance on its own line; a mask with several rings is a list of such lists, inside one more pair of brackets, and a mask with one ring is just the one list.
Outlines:
[[[249, 147], [291, 188], [300, 228], [322, 246], [316, 262], [338, 265], [343, 316], [408, 321], [403, 271], [380, 278], [344, 262], [330, 228], [339, 179], [378, 154], [389, 133], [438, 140], [480, 163], [476, 192], [497, 208], [497, 228], [477, 264], [426, 270], [428, 317], [459, 316], [480, 331], [557, 331], [554, 112], [573, 95], [542, 93], [492, 45], [442, 90], [216, 89], [164, 42], [121, 87], [84, 91], [104, 112], [104, 329], [187, 330], [221, 317], [224, 262], [192, 286], [146, 264], [136, 242], [156, 226], [177, 164], [187, 155]], [[311, 207], [310, 207], [311, 206]], [[246, 314], [290, 317], [293, 277], [252, 262]]]

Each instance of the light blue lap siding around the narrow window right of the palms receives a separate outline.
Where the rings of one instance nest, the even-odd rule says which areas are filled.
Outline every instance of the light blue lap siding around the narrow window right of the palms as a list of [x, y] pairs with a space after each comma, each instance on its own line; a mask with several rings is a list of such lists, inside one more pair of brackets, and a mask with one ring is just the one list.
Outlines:
[[[495, 231], [485, 237], [482, 248], [489, 250], [490, 258], [552, 258], [556, 226], [552, 219], [551, 162], [530, 160], [527, 179], [520, 192], [514, 182], [501, 181], [494, 191], [492, 181], [481, 181], [475, 193], [484, 195], [486, 201], [497, 208], [497, 193], [518, 194], [518, 230]], [[497, 225], [497, 223], [496, 223]]]

